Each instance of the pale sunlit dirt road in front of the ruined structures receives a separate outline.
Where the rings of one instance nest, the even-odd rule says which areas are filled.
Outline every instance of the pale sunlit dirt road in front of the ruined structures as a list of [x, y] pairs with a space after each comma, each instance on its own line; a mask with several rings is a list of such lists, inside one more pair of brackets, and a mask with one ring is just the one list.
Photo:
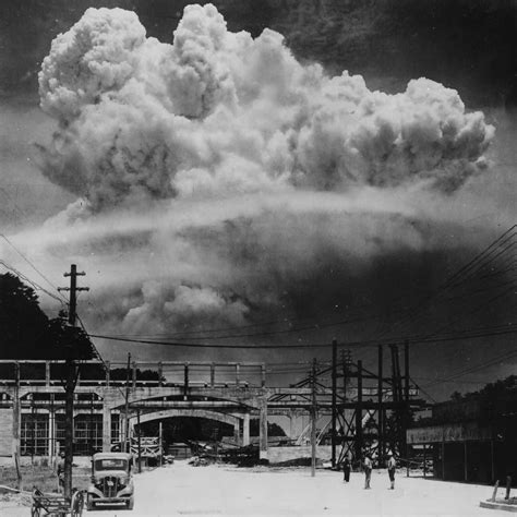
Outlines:
[[[385, 471], [372, 474], [363, 490], [363, 474], [350, 483], [340, 472], [310, 469], [238, 469], [231, 466], [191, 467], [177, 461], [167, 468], [135, 476], [133, 512], [103, 509], [84, 517], [142, 516], [485, 516], [507, 515], [479, 507], [491, 496], [490, 486], [448, 483], [397, 476], [396, 490]], [[502, 493], [502, 491], [500, 491]], [[3, 517], [29, 516], [28, 507], [0, 501]]]

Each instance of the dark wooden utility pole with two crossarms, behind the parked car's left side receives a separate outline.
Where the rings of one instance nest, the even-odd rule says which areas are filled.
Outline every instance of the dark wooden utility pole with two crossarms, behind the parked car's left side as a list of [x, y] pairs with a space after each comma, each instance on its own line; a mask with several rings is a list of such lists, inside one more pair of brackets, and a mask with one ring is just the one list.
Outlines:
[[[69, 302], [69, 324], [75, 326], [77, 313], [77, 291], [88, 291], [87, 287], [77, 287], [77, 276], [85, 273], [77, 273], [77, 266], [72, 264], [70, 273], [64, 277], [70, 277], [70, 287], [60, 287], [60, 291], [70, 291]], [[64, 381], [64, 496], [72, 497], [72, 461], [73, 461], [73, 394], [77, 381], [77, 365], [74, 360], [73, 344], [68, 344], [65, 357], [65, 381]]]

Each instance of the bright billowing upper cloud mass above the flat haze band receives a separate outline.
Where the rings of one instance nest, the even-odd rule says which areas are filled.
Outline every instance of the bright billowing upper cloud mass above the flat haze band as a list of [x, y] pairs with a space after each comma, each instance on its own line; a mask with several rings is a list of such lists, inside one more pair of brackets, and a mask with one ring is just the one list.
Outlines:
[[94, 211], [140, 199], [303, 187], [454, 190], [492, 128], [458, 94], [420, 79], [370, 92], [361, 76], [300, 64], [281, 35], [227, 31], [190, 5], [173, 45], [132, 12], [88, 9], [52, 43], [41, 107], [60, 121], [47, 175]]

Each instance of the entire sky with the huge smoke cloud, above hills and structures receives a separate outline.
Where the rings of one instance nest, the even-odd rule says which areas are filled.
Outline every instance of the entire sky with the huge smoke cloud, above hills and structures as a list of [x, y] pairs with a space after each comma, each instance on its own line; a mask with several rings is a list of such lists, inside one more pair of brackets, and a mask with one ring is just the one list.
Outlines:
[[[290, 364], [514, 322], [512, 235], [444, 288], [516, 220], [512, 2], [62, 3], [2, 2], [2, 233], [53, 286], [87, 273], [93, 334], [278, 345], [97, 339], [108, 359]], [[413, 344], [412, 374], [474, 389], [513, 341]]]

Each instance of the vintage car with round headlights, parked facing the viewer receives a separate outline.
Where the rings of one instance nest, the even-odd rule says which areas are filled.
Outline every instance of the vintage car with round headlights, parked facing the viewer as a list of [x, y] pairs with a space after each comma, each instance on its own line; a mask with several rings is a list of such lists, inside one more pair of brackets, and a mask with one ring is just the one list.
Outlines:
[[133, 456], [128, 453], [97, 453], [92, 458], [92, 483], [86, 507], [125, 506], [133, 509]]

